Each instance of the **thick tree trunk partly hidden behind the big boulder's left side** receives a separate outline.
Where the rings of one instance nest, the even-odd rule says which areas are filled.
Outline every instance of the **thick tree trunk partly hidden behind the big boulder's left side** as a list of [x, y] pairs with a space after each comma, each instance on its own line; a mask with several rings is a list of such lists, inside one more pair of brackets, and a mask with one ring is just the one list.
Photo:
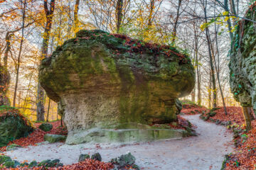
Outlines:
[[[50, 0], [50, 8], [48, 8], [48, 0], [43, 1], [43, 7], [46, 13], [46, 26], [45, 31], [43, 33], [43, 45], [42, 45], [42, 57], [47, 57], [48, 53], [48, 44], [50, 38], [50, 29], [53, 23], [53, 13], [55, 9], [55, 0]], [[45, 92], [38, 81], [38, 95], [37, 95], [37, 108], [36, 108], [36, 115], [38, 121], [44, 121], [44, 97]]]

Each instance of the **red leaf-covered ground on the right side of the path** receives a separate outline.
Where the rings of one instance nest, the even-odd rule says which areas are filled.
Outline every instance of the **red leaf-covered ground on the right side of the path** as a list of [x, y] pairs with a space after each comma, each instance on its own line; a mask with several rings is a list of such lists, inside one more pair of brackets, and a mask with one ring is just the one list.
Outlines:
[[[225, 115], [224, 108], [220, 107], [214, 111], [216, 115], [210, 117], [208, 122], [231, 121], [228, 129], [233, 132], [235, 151], [225, 156], [225, 170], [255, 170], [256, 169], [256, 120], [252, 120], [252, 130], [245, 130], [245, 121], [241, 107], [227, 107], [228, 115]], [[207, 112], [206, 112], [207, 113]], [[253, 113], [253, 112], [252, 112]], [[206, 114], [205, 114], [206, 115]], [[252, 114], [255, 119], [255, 115]]]

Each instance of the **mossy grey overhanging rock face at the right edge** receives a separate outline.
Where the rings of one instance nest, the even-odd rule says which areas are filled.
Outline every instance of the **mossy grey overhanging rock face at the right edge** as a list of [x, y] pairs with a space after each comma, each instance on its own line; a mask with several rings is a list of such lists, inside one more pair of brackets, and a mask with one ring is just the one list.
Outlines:
[[[250, 6], [245, 18], [256, 21], [256, 5]], [[235, 31], [230, 51], [230, 88], [242, 106], [256, 113], [256, 24], [242, 19]]]

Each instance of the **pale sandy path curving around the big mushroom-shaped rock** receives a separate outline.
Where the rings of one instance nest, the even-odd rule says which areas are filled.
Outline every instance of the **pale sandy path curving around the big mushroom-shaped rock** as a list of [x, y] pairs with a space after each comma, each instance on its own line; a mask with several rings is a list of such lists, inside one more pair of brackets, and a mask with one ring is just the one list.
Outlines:
[[63, 164], [78, 162], [80, 153], [100, 152], [105, 162], [126, 152], [132, 152], [137, 158], [136, 163], [143, 169], [164, 170], [219, 170], [223, 156], [233, 151], [232, 135], [225, 128], [213, 123], [204, 122], [199, 115], [184, 115], [196, 125], [197, 137], [187, 137], [183, 140], [166, 140], [147, 142], [140, 145], [126, 145], [114, 147], [102, 145], [72, 145], [62, 143], [28, 147], [6, 152], [13, 159], [22, 162], [45, 159], [60, 159]]

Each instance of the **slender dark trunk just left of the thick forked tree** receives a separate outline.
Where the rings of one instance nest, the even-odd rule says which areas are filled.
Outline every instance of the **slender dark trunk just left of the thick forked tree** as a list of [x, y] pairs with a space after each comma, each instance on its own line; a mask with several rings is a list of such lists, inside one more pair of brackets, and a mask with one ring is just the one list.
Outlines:
[[[22, 6], [22, 1], [21, 1]], [[21, 44], [18, 51], [18, 62], [17, 62], [17, 70], [16, 70], [16, 81], [15, 81], [15, 88], [14, 88], [14, 103], [13, 106], [16, 106], [16, 95], [17, 95], [17, 89], [18, 89], [18, 74], [19, 69], [21, 66], [21, 52], [22, 52], [22, 45], [23, 45], [23, 38], [24, 38], [24, 26], [25, 26], [25, 18], [26, 18], [26, 0], [24, 1], [24, 7], [22, 9], [22, 30], [21, 30]]]

